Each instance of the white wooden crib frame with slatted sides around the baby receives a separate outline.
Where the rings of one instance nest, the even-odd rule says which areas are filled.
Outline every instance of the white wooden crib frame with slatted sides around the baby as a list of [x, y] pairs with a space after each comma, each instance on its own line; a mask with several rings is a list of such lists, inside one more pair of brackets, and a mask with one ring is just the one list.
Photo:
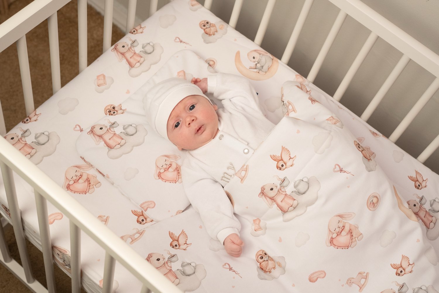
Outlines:
[[[50, 42], [50, 62], [52, 71], [52, 89], [56, 93], [61, 88], [59, 46], [58, 46], [58, 19], [57, 11], [67, 4], [70, 0], [34, 0], [27, 7], [12, 16], [0, 25], [0, 52], [16, 43], [18, 50], [19, 66], [22, 77], [23, 93], [25, 98], [26, 113], [29, 115], [34, 109], [31, 78], [29, 71], [29, 59], [26, 47], [26, 33], [36, 25], [48, 19], [49, 42]], [[305, 23], [306, 17], [313, 5], [314, 0], [305, 0], [299, 18], [291, 33], [288, 44], [285, 48], [281, 61], [288, 63], [294, 51], [299, 34]], [[380, 90], [367, 106], [361, 115], [365, 121], [371, 116], [378, 104], [392, 87], [397, 77], [401, 74], [410, 60], [421, 65], [425, 70], [435, 76], [424, 94], [421, 95], [414, 107], [407, 113], [407, 116], [399, 123], [389, 139], [395, 142], [404, 130], [410, 125], [413, 119], [421, 111], [433, 94], [439, 89], [439, 55], [429, 50], [423, 44], [409, 36], [403, 30], [393, 25], [370, 7], [363, 4], [360, 0], [329, 0], [340, 8], [340, 12], [332, 26], [327, 39], [325, 40], [320, 53], [318, 54], [307, 79], [313, 82], [323, 64], [323, 61], [335, 40], [340, 28], [347, 15], [356, 19], [367, 29], [371, 30], [369, 37], [362, 49], [357, 54], [351, 67], [346, 73], [334, 94], [334, 98], [339, 101], [345, 90], [352, 81], [353, 76], [360, 68], [361, 63], [366, 58], [372, 46], [378, 38], [381, 38], [403, 53], [395, 68], [382, 84]], [[260, 21], [259, 29], [256, 33], [254, 42], [258, 45], [262, 43], [266, 33], [273, 7], [276, 0], [268, 0], [265, 12]], [[86, 68], [87, 64], [87, 32], [86, 32], [86, 0], [78, 0], [78, 32], [79, 32], [79, 72]], [[241, 12], [243, 0], [235, 0], [229, 25], [235, 27]], [[129, 0], [126, 21], [126, 33], [134, 27], [135, 11], [137, 0]], [[212, 7], [212, 0], [205, 0], [204, 6], [208, 9]], [[158, 7], [158, 0], [150, 0], [150, 15]], [[105, 0], [104, 7], [104, 35], [103, 51], [108, 50], [111, 44], [113, 0]], [[3, 111], [0, 104], [0, 134], [6, 134]], [[423, 163], [439, 147], [439, 135], [428, 145], [427, 148], [417, 157]], [[5, 139], [0, 139], [0, 167], [3, 176], [7, 201], [11, 211], [12, 225], [18, 243], [18, 250], [23, 266], [20, 266], [10, 256], [4, 236], [3, 226], [7, 224], [1, 218], [0, 225], [0, 262], [7, 267], [18, 279], [28, 286], [33, 292], [56, 292], [54, 282], [53, 258], [51, 252], [51, 240], [49, 226], [47, 222], [47, 201], [57, 207], [70, 220], [71, 238], [71, 257], [72, 257], [72, 292], [78, 293], [81, 288], [80, 279], [80, 232], [83, 231], [96, 241], [104, 250], [104, 287], [103, 292], [112, 292], [113, 277], [115, 272], [115, 261], [125, 266], [142, 283], [141, 292], [180, 292], [173, 286], [166, 277], [159, 273], [148, 262], [144, 261], [134, 250], [128, 248], [109, 228], [103, 227], [100, 221], [92, 216], [83, 206], [77, 203], [67, 194], [58, 184], [43, 174], [34, 164], [29, 162], [20, 152], [11, 146]], [[12, 172], [15, 172], [27, 181], [35, 190], [36, 209], [40, 227], [40, 237], [43, 247], [44, 265], [47, 276], [48, 289], [37, 282], [32, 275], [29, 256], [25, 246], [25, 234], [22, 229], [22, 221], [19, 213], [17, 195], [15, 192]]]

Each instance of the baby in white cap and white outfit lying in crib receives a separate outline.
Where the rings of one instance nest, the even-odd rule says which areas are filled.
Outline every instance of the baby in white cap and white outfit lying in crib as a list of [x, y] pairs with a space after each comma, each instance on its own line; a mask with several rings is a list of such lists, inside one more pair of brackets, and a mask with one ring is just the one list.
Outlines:
[[[213, 105], [206, 92], [224, 108]], [[223, 187], [274, 127], [254, 88], [246, 78], [226, 73], [191, 83], [171, 78], [151, 88], [144, 106], [151, 127], [187, 150], [181, 166], [184, 191], [207, 232], [239, 257], [241, 224]]]

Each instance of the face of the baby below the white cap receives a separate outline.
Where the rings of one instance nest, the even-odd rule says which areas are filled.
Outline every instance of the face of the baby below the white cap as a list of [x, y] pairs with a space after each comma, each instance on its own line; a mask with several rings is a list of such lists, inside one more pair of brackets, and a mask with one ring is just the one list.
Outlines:
[[169, 115], [169, 140], [181, 149], [196, 149], [211, 141], [218, 133], [216, 105], [199, 95], [181, 100]]

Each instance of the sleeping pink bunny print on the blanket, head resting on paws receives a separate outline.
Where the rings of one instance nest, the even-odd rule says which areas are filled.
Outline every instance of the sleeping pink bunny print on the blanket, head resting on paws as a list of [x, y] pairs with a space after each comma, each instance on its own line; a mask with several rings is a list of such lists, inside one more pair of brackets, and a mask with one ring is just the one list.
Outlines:
[[356, 225], [345, 222], [353, 217], [355, 213], [339, 213], [329, 220], [326, 246], [348, 249], [356, 246], [357, 240], [363, 239], [363, 234]]

